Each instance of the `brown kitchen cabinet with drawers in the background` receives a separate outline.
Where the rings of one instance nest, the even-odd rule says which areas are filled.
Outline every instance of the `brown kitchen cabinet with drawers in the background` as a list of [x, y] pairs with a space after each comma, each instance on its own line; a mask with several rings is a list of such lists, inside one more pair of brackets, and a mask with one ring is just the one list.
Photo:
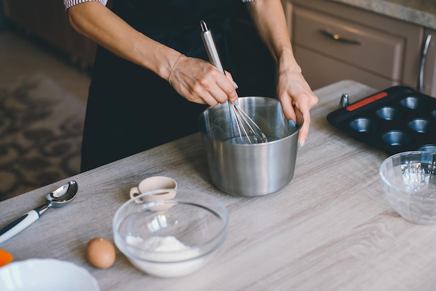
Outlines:
[[333, 1], [282, 2], [295, 58], [313, 90], [342, 79], [378, 90], [419, 88], [421, 74], [423, 92], [436, 96], [436, 36], [421, 64], [424, 36], [436, 31]]

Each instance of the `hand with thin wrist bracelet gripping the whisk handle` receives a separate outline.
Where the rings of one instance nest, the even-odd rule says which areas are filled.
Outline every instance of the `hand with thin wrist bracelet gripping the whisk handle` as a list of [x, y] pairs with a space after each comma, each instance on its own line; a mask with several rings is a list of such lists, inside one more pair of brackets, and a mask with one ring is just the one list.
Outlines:
[[191, 102], [215, 106], [238, 100], [230, 72], [222, 74], [214, 65], [184, 55], [174, 61], [168, 79], [180, 95]]

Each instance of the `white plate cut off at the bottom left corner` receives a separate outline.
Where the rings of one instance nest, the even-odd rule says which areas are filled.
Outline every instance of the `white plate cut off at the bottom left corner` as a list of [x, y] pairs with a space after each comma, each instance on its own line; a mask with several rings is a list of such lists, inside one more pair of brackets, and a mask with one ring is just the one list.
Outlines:
[[0, 267], [0, 290], [4, 291], [100, 291], [97, 280], [72, 262], [29, 259]]

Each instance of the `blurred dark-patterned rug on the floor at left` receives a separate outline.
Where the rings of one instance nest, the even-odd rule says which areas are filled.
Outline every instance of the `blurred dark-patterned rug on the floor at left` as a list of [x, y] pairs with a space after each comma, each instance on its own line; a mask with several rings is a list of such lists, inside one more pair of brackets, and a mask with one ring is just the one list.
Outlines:
[[85, 110], [42, 73], [0, 86], [0, 200], [79, 173]]

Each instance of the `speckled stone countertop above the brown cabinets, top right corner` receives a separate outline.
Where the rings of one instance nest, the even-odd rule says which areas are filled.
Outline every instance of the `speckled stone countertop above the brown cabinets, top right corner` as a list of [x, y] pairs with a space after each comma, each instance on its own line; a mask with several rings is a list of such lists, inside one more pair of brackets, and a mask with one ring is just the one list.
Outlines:
[[435, 0], [329, 0], [436, 29]]

